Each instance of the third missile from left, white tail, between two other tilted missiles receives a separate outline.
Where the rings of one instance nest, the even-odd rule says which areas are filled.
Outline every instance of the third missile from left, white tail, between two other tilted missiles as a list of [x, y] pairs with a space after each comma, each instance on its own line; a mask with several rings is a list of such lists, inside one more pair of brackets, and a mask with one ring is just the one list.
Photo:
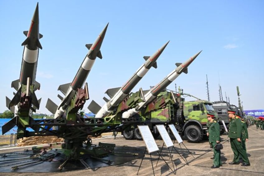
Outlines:
[[135, 85], [143, 78], [143, 76], [149, 71], [151, 67], [157, 68], [157, 59], [167, 46], [169, 41], [163, 45], [157, 52], [155, 52], [151, 57], [144, 56], [146, 60], [143, 65], [137, 69], [137, 71], [132, 75], [132, 77], [126, 81], [126, 83], [120, 88], [112, 88], [106, 91], [107, 95], [111, 98], [106, 100], [103, 107], [100, 107], [95, 101], [92, 101], [88, 106], [88, 109], [96, 114], [95, 118], [103, 118], [109, 115], [116, 107], [128, 96]]

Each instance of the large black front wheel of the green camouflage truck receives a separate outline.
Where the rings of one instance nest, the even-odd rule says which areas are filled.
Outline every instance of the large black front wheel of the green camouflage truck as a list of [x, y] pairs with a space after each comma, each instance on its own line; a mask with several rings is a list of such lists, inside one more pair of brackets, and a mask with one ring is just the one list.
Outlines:
[[188, 142], [198, 143], [203, 139], [202, 130], [196, 125], [187, 126], [184, 136]]

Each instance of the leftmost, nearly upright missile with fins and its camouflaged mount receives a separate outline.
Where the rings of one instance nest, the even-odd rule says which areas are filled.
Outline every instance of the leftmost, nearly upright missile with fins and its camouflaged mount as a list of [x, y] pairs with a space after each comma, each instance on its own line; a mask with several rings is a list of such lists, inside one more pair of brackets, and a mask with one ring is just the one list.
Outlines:
[[24, 51], [20, 78], [11, 84], [11, 87], [15, 88], [17, 93], [12, 100], [6, 97], [7, 107], [15, 114], [15, 117], [2, 126], [3, 134], [15, 125], [18, 126], [19, 131], [21, 126], [28, 124], [32, 111], [35, 112], [40, 107], [41, 98], [37, 100], [35, 95], [35, 90], [40, 88], [40, 83], [35, 81], [35, 77], [39, 48], [42, 49], [39, 41], [42, 35], [39, 33], [38, 3], [31, 20], [29, 31], [24, 31], [23, 33], [26, 36], [26, 40], [22, 43], [22, 46], [24, 45]]

